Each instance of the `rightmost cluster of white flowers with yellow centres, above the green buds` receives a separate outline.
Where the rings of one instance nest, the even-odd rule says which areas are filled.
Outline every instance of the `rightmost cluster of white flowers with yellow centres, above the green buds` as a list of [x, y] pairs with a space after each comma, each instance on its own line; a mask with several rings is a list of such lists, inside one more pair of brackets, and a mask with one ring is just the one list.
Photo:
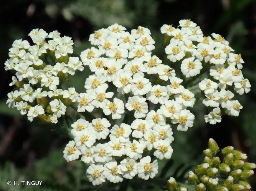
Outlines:
[[205, 115], [205, 122], [219, 123], [225, 113], [238, 116], [243, 106], [235, 99], [235, 94], [248, 93], [251, 87], [241, 71], [244, 63], [241, 54], [232, 53], [229, 42], [219, 34], [204, 36], [190, 19], [180, 20], [179, 24], [180, 28], [167, 24], [161, 28], [168, 43], [165, 53], [171, 62], [180, 63], [185, 83], [188, 78], [208, 71], [209, 75], [198, 83], [204, 97], [202, 102], [211, 110]]

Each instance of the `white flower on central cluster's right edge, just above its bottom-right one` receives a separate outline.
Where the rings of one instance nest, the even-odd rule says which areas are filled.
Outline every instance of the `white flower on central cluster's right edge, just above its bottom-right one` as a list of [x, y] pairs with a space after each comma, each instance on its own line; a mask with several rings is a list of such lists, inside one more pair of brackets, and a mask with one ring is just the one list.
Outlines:
[[173, 149], [170, 146], [170, 142], [167, 140], [158, 140], [154, 142], [154, 147], [156, 151], [154, 152], [154, 156], [158, 159], [170, 159], [172, 156]]

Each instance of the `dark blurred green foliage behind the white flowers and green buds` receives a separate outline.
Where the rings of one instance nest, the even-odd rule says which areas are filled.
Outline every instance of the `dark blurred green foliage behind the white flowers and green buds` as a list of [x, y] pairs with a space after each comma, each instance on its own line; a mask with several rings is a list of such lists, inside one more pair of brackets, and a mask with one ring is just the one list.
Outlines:
[[[89, 34], [119, 23], [128, 30], [142, 25], [152, 31], [156, 41], [154, 54], [164, 60], [160, 27], [178, 25], [180, 19], [196, 22], [206, 36], [216, 32], [224, 36], [245, 61], [243, 74], [251, 82], [249, 94], [240, 97], [244, 106], [239, 117], [224, 116], [220, 124], [203, 120], [207, 112], [199, 104], [194, 108], [196, 120], [187, 132], [174, 131], [172, 160], [159, 163], [159, 177], [153, 181], [132, 180], [129, 184], [104, 184], [93, 187], [85, 175], [82, 162], [67, 163], [62, 151], [69, 141], [67, 127], [29, 123], [15, 109], [5, 104], [12, 90], [11, 73], [4, 70], [8, 49], [13, 40], [29, 40], [34, 28], [47, 32], [58, 30], [74, 40], [74, 55], [90, 47]], [[170, 176], [182, 180], [188, 170], [202, 160], [201, 151], [209, 138], [221, 148], [232, 145], [256, 162], [256, 1], [255, 0], [13, 0], [0, 7], [0, 190], [164, 190]], [[72, 76], [66, 87], [84, 92], [86, 71]], [[71, 121], [69, 121], [71, 123]], [[8, 180], [40, 180], [43, 185], [7, 186]], [[256, 189], [256, 176], [251, 178]]]

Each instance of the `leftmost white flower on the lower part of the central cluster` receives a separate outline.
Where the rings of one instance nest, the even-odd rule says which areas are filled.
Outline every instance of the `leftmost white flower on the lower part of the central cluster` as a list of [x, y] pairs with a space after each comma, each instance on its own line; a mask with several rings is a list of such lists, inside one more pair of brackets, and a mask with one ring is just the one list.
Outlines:
[[74, 141], [69, 141], [63, 151], [63, 157], [66, 161], [70, 162], [72, 160], [76, 160], [81, 155], [81, 152], [76, 148]]

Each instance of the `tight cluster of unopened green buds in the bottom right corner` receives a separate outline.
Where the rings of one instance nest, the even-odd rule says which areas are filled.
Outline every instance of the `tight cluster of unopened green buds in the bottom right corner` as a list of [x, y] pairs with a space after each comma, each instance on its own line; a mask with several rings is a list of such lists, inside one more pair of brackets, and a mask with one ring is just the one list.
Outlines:
[[[193, 186], [179, 186], [171, 177], [167, 181], [169, 191], [243, 191], [251, 189], [246, 180], [254, 174], [253, 169], [256, 168], [256, 165], [244, 162], [247, 159], [246, 154], [234, 150], [232, 146], [225, 147], [220, 151], [213, 139], [209, 139], [208, 147], [203, 151], [205, 155], [203, 163], [197, 165], [195, 172], [188, 173], [187, 181]], [[221, 154], [223, 156], [220, 156]], [[221, 161], [222, 158], [223, 161]]]

